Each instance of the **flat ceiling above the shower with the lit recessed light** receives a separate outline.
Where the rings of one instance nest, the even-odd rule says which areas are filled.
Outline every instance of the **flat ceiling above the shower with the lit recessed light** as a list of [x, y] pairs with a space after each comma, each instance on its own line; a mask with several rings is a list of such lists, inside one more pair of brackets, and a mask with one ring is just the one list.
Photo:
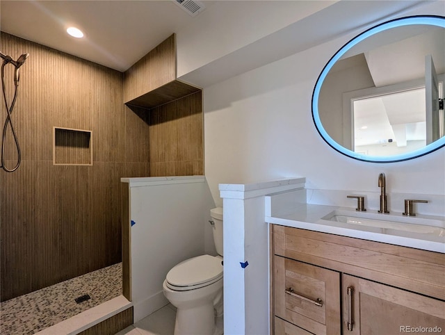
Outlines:
[[[0, 9], [1, 31], [121, 72], [195, 18], [168, 0], [1, 0]], [[67, 35], [68, 26], [85, 37]]]

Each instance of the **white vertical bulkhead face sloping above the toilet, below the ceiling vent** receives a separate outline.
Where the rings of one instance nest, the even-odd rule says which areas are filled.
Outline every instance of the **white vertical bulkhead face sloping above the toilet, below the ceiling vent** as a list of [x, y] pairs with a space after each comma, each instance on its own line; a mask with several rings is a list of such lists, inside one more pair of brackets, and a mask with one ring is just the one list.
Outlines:
[[225, 1], [210, 3], [211, 11], [204, 10], [193, 24], [176, 31], [177, 75], [231, 54], [337, 1], [232, 1], [232, 6], [225, 6]]

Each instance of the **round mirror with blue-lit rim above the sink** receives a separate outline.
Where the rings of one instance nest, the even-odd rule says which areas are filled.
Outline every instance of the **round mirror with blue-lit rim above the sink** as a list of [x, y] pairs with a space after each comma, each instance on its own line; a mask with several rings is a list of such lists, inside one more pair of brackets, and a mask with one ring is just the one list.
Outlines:
[[445, 145], [445, 17], [379, 24], [346, 43], [312, 95], [318, 133], [341, 154], [405, 161]]

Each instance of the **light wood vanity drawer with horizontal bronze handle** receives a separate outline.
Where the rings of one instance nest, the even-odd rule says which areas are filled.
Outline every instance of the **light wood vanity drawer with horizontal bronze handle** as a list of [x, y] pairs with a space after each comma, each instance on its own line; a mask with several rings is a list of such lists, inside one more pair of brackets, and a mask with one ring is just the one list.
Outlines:
[[340, 334], [340, 273], [274, 256], [275, 316], [314, 334]]

